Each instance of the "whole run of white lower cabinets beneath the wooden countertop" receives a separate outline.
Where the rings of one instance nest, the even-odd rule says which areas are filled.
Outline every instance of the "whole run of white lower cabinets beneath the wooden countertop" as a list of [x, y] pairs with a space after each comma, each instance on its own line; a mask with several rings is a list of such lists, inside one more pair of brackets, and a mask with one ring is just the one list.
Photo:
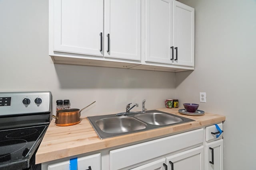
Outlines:
[[[218, 126], [222, 129], [222, 123]], [[77, 170], [223, 170], [223, 139], [222, 134], [218, 135], [216, 126], [211, 125], [91, 155], [85, 153], [77, 156]], [[70, 158], [42, 163], [42, 170], [70, 170]]]

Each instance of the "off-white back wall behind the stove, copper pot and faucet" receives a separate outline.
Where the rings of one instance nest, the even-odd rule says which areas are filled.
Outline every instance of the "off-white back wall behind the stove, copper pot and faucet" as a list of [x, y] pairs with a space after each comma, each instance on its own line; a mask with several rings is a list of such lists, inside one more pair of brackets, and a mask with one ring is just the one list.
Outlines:
[[0, 0], [0, 92], [46, 91], [73, 108], [96, 103], [82, 116], [125, 111], [146, 99], [146, 108], [175, 98], [175, 74], [53, 64], [48, 56], [48, 0]]

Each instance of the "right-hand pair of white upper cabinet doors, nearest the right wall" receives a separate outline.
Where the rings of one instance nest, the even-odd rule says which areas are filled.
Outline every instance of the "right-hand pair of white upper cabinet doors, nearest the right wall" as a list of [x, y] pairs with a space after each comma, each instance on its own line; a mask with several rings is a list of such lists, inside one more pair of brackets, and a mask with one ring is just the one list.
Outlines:
[[175, 0], [145, 1], [145, 61], [194, 66], [194, 8]]

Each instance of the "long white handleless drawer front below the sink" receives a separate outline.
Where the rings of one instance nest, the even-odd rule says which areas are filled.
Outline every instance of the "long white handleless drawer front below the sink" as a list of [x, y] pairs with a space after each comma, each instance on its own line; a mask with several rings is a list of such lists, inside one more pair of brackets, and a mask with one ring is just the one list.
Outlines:
[[110, 169], [134, 165], [203, 142], [203, 129], [110, 151]]

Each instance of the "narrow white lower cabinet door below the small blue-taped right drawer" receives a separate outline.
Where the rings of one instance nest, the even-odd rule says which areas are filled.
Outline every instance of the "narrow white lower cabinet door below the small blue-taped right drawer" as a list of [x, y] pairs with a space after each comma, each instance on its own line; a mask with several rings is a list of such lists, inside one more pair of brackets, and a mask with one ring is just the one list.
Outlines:
[[206, 144], [204, 169], [223, 170], [223, 139]]

